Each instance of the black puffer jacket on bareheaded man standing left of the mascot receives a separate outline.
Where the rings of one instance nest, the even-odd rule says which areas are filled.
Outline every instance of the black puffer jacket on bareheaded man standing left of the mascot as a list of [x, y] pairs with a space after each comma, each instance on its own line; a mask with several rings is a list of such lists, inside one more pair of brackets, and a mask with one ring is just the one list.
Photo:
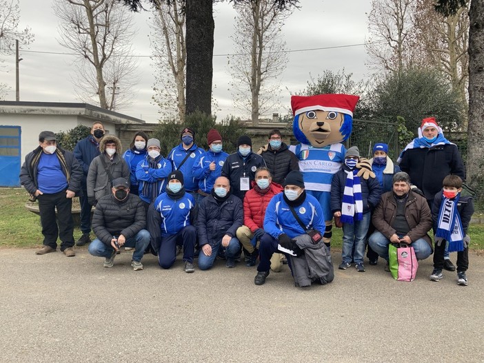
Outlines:
[[297, 170], [299, 172], [299, 160], [296, 155], [288, 149], [288, 145], [285, 143], [281, 144], [279, 149], [272, 149], [270, 145], [266, 151], [261, 153], [262, 158], [265, 161], [272, 174], [272, 181], [277, 184], [283, 185], [285, 176]]

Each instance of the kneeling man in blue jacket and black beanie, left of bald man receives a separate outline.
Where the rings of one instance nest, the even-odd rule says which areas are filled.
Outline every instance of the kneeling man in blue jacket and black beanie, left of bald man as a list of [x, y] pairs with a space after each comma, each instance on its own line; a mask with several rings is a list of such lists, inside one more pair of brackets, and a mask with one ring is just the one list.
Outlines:
[[148, 211], [148, 230], [158, 262], [169, 269], [177, 260], [177, 245], [183, 245], [183, 271], [194, 272], [193, 257], [196, 240], [197, 206], [183, 186], [183, 174], [177, 170], [168, 176], [166, 192], [161, 194]]

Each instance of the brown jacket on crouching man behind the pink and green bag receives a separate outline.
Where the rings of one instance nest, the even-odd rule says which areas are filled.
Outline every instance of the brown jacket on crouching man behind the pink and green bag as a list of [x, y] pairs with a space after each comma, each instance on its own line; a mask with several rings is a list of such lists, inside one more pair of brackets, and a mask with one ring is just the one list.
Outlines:
[[[381, 196], [379, 205], [376, 206], [372, 223], [378, 231], [390, 240], [395, 234], [392, 224], [396, 217], [396, 200], [393, 191], [387, 191]], [[410, 231], [407, 236], [412, 242], [423, 238], [432, 247], [432, 240], [427, 234], [432, 229], [432, 214], [427, 200], [423, 196], [408, 192], [407, 203], [405, 203], [405, 219], [407, 220]]]

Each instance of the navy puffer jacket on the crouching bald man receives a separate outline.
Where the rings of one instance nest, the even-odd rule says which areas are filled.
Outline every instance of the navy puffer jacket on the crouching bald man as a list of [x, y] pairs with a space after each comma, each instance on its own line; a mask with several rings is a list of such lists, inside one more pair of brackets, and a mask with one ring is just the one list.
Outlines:
[[235, 237], [237, 228], [243, 225], [242, 200], [230, 195], [221, 205], [213, 196], [203, 198], [199, 206], [196, 230], [200, 246], [215, 246], [228, 234]]

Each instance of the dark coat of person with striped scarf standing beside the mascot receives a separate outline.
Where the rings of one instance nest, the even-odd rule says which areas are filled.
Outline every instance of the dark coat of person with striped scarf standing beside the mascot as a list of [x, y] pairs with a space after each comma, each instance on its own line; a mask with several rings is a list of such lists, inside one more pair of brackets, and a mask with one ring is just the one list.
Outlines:
[[[341, 211], [343, 203], [343, 194], [345, 192], [346, 171], [349, 170], [343, 165], [341, 170], [334, 174], [331, 182], [331, 213]], [[381, 197], [380, 183], [376, 178], [360, 178], [361, 180], [361, 198], [363, 199], [363, 213], [372, 211], [378, 205]]]

